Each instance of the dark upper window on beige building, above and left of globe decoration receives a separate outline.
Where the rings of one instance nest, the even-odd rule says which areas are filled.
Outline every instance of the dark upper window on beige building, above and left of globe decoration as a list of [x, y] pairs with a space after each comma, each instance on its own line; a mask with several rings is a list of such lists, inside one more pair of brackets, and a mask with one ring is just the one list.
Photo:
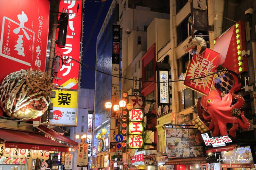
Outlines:
[[177, 26], [177, 46], [180, 45], [188, 36], [191, 35], [191, 25], [188, 22], [188, 18], [185, 18], [178, 26]]

